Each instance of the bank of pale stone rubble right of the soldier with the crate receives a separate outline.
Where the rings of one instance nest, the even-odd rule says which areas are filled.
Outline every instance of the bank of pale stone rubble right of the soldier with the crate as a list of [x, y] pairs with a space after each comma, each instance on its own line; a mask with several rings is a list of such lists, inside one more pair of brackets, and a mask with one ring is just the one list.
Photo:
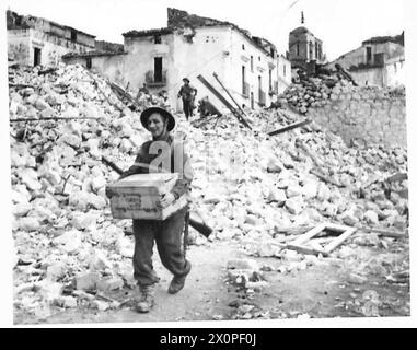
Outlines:
[[[265, 132], [290, 118], [297, 115], [253, 115], [255, 132], [234, 119], [183, 131], [196, 173], [193, 201], [210, 213], [218, 236], [274, 236], [278, 228], [325, 220], [405, 229], [407, 200], [396, 191], [387, 197], [383, 185], [389, 175], [406, 172], [404, 149], [349, 148], [314, 122], [274, 137]], [[404, 188], [406, 180], [396, 185]]]

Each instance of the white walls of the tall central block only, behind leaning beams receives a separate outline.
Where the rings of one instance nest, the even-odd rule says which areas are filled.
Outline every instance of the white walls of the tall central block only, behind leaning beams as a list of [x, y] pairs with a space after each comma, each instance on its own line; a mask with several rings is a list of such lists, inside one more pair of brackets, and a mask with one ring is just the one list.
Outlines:
[[[173, 92], [175, 95], [182, 84], [182, 79], [188, 77], [192, 84], [198, 90], [197, 100], [209, 96], [211, 103], [219, 109], [223, 109], [224, 106], [196, 78], [201, 74], [220, 93], [225, 95], [212, 77], [212, 73], [216, 72], [241, 106], [251, 107], [252, 95], [254, 108], [258, 108], [260, 104], [270, 105], [270, 96], [268, 95], [269, 69], [271, 70], [271, 85], [274, 86], [278, 75], [277, 61], [260, 50], [241, 32], [224, 26], [199, 27], [195, 32], [193, 43], [188, 43], [183, 35], [175, 35], [174, 45], [175, 67], [170, 71], [170, 74], [176, 82]], [[193, 61], [189, 60], [189, 57], [194, 58]], [[247, 84], [245, 94], [242, 67], [245, 70], [245, 83]], [[259, 89], [264, 94], [263, 101], [259, 98]], [[177, 110], [182, 110], [181, 100], [177, 100], [176, 107]]]

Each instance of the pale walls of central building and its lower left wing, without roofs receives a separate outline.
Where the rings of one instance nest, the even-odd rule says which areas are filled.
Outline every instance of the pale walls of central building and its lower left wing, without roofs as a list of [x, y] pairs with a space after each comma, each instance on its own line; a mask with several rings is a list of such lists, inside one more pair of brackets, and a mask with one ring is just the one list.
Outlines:
[[[177, 98], [177, 92], [183, 84], [183, 78], [187, 77], [192, 85], [198, 90], [197, 100], [209, 96], [210, 102], [222, 109], [224, 106], [197, 79], [197, 75], [201, 74], [223, 93], [212, 77], [216, 72], [240, 105], [251, 105], [252, 92], [254, 107], [257, 108], [260, 77], [260, 88], [265, 93], [264, 103], [266, 106], [270, 104], [269, 63], [274, 66], [271, 69], [274, 85], [278, 75], [276, 60], [241, 32], [230, 26], [211, 25], [194, 30], [177, 28], [172, 34], [161, 35], [160, 44], [155, 44], [154, 39], [154, 35], [125, 36], [127, 55], [123, 58], [125, 60], [123, 85], [130, 82], [131, 89], [137, 90], [147, 82], [152, 92], [167, 90], [171, 105], [179, 112], [183, 106], [181, 98]], [[251, 56], [253, 70], [251, 70]], [[164, 78], [162, 84], [150, 84], [146, 77], [148, 72], [153, 72], [155, 57], [162, 57]], [[243, 94], [242, 66], [245, 66], [245, 81], [250, 88], [246, 95]]]

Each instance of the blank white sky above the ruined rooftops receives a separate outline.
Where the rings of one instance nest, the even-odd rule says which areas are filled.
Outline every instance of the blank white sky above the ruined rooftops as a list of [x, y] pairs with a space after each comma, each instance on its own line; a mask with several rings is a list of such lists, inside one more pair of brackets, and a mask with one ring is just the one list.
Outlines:
[[288, 34], [304, 25], [324, 42], [329, 60], [372, 36], [405, 30], [407, 0], [7, 0], [20, 14], [32, 14], [123, 43], [121, 33], [166, 26], [166, 8], [229, 21], [288, 50]]

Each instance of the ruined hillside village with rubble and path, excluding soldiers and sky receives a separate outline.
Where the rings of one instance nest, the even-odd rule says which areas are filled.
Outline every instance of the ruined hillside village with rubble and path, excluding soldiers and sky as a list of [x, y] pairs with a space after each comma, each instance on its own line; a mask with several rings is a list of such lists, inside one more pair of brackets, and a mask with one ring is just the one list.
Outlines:
[[[124, 44], [7, 12], [15, 323], [128, 310], [131, 222], [112, 219], [103, 159], [131, 164], [151, 105], [175, 113], [213, 229], [190, 230], [189, 254], [219, 258], [207, 295], [197, 264], [189, 308], [157, 320], [409, 315], [404, 32], [329, 62], [303, 22], [287, 50], [176, 9]], [[184, 77], [211, 106], [190, 121]]]

